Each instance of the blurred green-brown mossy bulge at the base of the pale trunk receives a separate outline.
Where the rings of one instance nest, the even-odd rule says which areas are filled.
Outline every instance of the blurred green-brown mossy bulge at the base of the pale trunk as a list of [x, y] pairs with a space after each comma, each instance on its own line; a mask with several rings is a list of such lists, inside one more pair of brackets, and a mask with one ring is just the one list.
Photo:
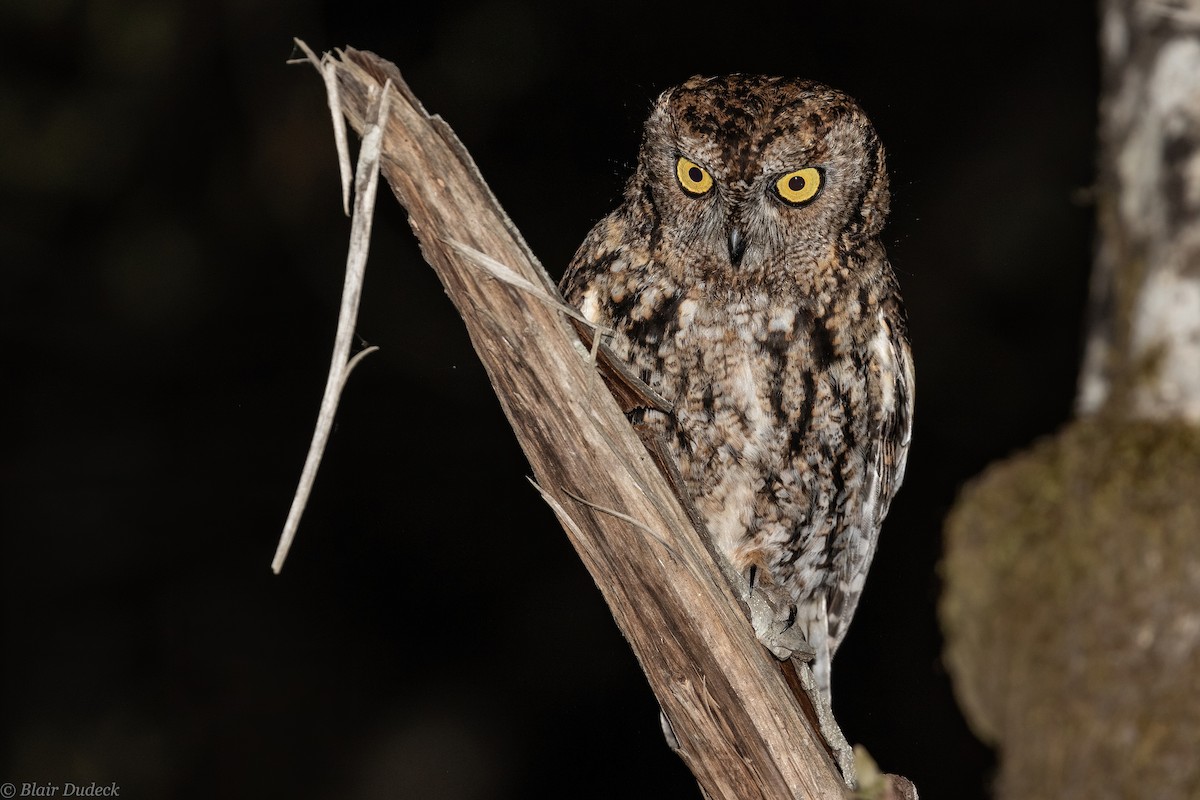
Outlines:
[[1196, 793], [1103, 796], [1200, 796], [1200, 431], [1075, 422], [972, 481], [946, 535], [946, 661], [1006, 792], [1099, 796], [1069, 789], [1100, 754], [1130, 787], [1177, 758]]

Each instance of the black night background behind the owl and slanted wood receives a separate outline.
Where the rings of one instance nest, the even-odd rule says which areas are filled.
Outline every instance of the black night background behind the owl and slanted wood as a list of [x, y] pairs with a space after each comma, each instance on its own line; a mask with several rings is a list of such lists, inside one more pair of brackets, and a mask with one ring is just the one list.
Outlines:
[[994, 757], [940, 662], [941, 522], [1070, 414], [1091, 4], [434, 5], [0, 10], [0, 781], [698, 796], [390, 193], [359, 323], [383, 349], [271, 575], [348, 233], [320, 80], [284, 64], [300, 36], [395, 61], [554, 276], [659, 91], [748, 71], [860, 100], [889, 148], [919, 389], [835, 706], [923, 798], [985, 796]]

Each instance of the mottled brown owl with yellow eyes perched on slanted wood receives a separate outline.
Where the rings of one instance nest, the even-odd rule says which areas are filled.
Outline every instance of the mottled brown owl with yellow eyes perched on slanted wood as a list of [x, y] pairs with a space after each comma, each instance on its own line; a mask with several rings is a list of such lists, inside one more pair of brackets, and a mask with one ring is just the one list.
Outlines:
[[827, 702], [912, 431], [888, 204], [883, 148], [851, 97], [695, 77], [659, 97], [622, 204], [560, 285], [671, 403], [637, 421], [720, 557], [799, 626]]

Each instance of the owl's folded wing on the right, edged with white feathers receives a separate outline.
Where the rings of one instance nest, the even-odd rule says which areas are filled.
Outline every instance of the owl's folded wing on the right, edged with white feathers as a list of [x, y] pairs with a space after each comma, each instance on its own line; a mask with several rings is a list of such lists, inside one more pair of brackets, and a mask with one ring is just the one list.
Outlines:
[[[902, 311], [896, 306], [895, 314], [884, 318], [881, 331], [880, 356], [884, 374], [890, 372], [888, 380], [890, 392], [884, 389], [886, 403], [881, 435], [868, 451], [866, 463], [870, 470], [864, 492], [860, 516], [847, 519], [846, 527], [857, 527], [858, 536], [847, 536], [862, 548], [850, 553], [845, 572], [839, 576], [835, 588], [829, 593], [828, 631], [830, 655], [838, 650], [850, 620], [854, 616], [858, 599], [866, 582], [866, 570], [875, 557], [880, 528], [892, 505], [892, 498], [904, 481], [905, 467], [908, 462], [908, 445], [912, 441], [913, 410], [913, 366], [912, 350], [905, 331]], [[848, 531], [844, 531], [844, 535]]]

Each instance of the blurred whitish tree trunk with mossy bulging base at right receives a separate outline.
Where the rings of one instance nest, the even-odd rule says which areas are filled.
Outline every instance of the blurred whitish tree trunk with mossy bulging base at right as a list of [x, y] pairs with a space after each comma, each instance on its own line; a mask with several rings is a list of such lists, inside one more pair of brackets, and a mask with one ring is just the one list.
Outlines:
[[1200, 796], [1200, 4], [1102, 4], [1079, 419], [947, 522], [946, 661], [1000, 798]]

